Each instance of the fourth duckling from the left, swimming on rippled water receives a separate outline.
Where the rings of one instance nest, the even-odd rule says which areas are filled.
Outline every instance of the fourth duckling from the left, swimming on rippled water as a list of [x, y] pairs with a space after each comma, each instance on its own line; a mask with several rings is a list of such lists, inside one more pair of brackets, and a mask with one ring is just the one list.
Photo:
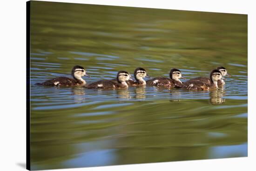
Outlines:
[[154, 79], [150, 79], [147, 81], [147, 85], [154, 85], [154, 86], [164, 86], [168, 88], [173, 87], [181, 87], [182, 82], [180, 79], [185, 79], [182, 77], [182, 72], [178, 69], [171, 69], [170, 73], [170, 79], [164, 78], [164, 77], [156, 77]]

